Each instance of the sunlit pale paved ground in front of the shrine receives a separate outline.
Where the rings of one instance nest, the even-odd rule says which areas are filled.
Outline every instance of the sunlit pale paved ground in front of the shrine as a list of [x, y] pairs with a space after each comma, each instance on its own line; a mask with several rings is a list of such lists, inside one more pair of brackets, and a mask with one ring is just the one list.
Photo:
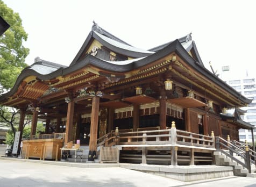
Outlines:
[[124, 168], [77, 168], [0, 159], [0, 186], [225, 186], [253, 187], [255, 178], [227, 177], [193, 183]]

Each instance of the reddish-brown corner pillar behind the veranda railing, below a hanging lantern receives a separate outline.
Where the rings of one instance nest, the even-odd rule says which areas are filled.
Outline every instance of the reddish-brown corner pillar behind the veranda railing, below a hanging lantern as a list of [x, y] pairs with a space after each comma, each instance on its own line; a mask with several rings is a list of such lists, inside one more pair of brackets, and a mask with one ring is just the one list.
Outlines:
[[159, 126], [160, 130], [166, 130], [166, 93], [165, 90], [160, 90], [159, 99]]

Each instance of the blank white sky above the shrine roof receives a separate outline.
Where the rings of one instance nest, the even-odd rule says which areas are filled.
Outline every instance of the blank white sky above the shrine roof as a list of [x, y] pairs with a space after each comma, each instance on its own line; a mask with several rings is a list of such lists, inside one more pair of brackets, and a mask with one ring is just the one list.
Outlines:
[[3, 0], [29, 34], [26, 63], [34, 58], [66, 66], [74, 59], [93, 20], [128, 44], [150, 49], [192, 33], [204, 66], [222, 75], [255, 75], [254, 0]]

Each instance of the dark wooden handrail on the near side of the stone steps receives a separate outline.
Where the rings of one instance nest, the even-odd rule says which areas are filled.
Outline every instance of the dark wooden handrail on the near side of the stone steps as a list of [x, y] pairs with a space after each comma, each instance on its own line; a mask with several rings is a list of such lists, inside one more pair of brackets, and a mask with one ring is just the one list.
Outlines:
[[[251, 173], [251, 163], [255, 164], [255, 162], [250, 159], [250, 152], [248, 149], [243, 150], [219, 136], [216, 136], [215, 139], [216, 139], [217, 151], [223, 153], [227, 157], [230, 157], [231, 160], [236, 161], [241, 166], [248, 169], [248, 171]], [[226, 150], [229, 150], [229, 153], [227, 153]], [[236, 157], [234, 157], [233, 153], [236, 153], [237, 155], [241, 156], [244, 159], [244, 162], [242, 162], [239, 159], [237, 159]]]

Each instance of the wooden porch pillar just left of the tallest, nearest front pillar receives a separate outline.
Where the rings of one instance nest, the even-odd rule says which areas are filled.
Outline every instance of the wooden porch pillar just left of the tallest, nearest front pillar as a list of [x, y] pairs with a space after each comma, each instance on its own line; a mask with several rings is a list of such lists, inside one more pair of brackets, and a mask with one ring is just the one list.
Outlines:
[[68, 103], [68, 111], [67, 111], [67, 124], [66, 124], [65, 144], [67, 142], [73, 140], [74, 108], [75, 108], [75, 103], [73, 101], [70, 101]]

